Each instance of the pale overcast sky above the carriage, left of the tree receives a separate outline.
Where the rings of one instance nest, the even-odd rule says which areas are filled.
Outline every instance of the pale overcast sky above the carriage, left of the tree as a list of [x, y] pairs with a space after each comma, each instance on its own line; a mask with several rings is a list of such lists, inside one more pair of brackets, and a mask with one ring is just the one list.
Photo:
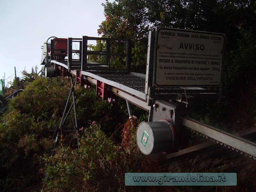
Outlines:
[[[109, 2], [113, 2], [110, 0]], [[98, 36], [105, 0], [0, 0], [0, 79], [41, 69], [41, 46], [51, 36]]]

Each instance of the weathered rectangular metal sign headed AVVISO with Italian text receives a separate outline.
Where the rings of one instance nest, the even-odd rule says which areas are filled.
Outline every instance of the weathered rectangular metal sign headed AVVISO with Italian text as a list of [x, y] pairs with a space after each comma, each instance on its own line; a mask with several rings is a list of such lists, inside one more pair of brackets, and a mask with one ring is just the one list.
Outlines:
[[221, 86], [225, 34], [156, 28], [155, 86]]

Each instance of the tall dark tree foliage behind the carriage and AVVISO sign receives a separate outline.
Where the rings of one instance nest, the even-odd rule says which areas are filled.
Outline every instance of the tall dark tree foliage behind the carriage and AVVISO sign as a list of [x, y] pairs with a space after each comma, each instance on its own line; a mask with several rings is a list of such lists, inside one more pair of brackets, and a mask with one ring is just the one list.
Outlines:
[[[207, 123], [211, 122], [212, 125], [220, 121], [227, 123], [224, 117], [236, 111], [232, 105], [234, 104], [232, 95], [237, 96], [236, 104], [238, 104], [241, 98], [248, 95], [247, 91], [255, 90], [255, 1], [116, 0], [110, 3], [107, 0], [103, 6], [106, 20], [101, 23], [98, 33], [106, 37], [132, 39], [132, 70], [135, 72], [145, 72], [148, 32], [154, 31], [156, 26], [226, 34], [223, 103], [216, 105], [216, 101], [196, 101], [197, 104], [192, 105], [195, 118]], [[246, 102], [249, 103], [255, 103], [254, 100], [254, 97], [246, 98]], [[248, 121], [253, 124], [256, 114], [251, 111], [250, 109], [250, 113], [247, 113], [250, 114]]]

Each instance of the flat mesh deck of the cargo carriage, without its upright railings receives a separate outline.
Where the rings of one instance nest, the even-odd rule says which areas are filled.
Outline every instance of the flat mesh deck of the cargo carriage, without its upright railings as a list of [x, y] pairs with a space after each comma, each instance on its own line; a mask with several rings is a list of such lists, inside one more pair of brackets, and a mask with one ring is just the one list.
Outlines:
[[[66, 62], [60, 62], [60, 61], [52, 61], [53, 63], [60, 65], [66, 69], [68, 69], [67, 61]], [[80, 63], [81, 64], [81, 63]], [[91, 62], [88, 61], [88, 66], [90, 66]], [[206, 90], [201, 87], [157, 87], [152, 88], [150, 87], [149, 90], [146, 90], [146, 74], [140, 74], [140, 73], [134, 73], [130, 72], [129, 74], [124, 73], [104, 73], [101, 72], [100, 74], [97, 74], [99, 71], [94, 70], [94, 66], [102, 67], [100, 63], [93, 63], [91, 65], [91, 68], [88, 68], [87, 71], [81, 71], [81, 75], [84, 76], [85, 80], [88, 80], [90, 83], [97, 84], [97, 80], [100, 82], [103, 82], [105, 84], [108, 84], [110, 87], [113, 87], [118, 90], [119, 94], [115, 92], [116, 95], [121, 96], [120, 94], [123, 92], [127, 94], [132, 95], [132, 99], [127, 99], [130, 102], [136, 104], [137, 102], [134, 102], [134, 98], [136, 97], [137, 100], [142, 100], [143, 102], [148, 103], [148, 99], [151, 100], [158, 100], [158, 98], [162, 98], [164, 100], [179, 100], [182, 101], [188, 101], [194, 98], [204, 98], [205, 94], [208, 94], [208, 97], [215, 97], [219, 95], [219, 93], [215, 90]], [[107, 66], [105, 66], [107, 68]], [[73, 69], [70, 71], [73, 75], [76, 75], [78, 69]], [[151, 92], [151, 94], [148, 94], [148, 91]], [[202, 91], [204, 93], [202, 93]], [[125, 98], [124, 98], [125, 99]], [[145, 104], [143, 104], [146, 108]], [[138, 104], [139, 105], [139, 104]], [[140, 101], [141, 105], [141, 101]], [[140, 106], [139, 105], [139, 106]]]

